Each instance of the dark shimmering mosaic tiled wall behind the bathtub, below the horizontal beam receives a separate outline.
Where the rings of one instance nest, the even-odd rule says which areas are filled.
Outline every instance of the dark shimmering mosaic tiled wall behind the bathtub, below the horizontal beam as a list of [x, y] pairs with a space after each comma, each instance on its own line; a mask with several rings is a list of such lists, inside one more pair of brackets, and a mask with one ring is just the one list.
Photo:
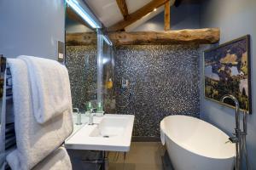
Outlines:
[[[119, 114], [135, 115], [133, 135], [159, 137], [165, 116], [199, 116], [197, 49], [189, 45], [116, 49], [116, 109]], [[129, 80], [130, 89], [120, 88], [122, 78]]]

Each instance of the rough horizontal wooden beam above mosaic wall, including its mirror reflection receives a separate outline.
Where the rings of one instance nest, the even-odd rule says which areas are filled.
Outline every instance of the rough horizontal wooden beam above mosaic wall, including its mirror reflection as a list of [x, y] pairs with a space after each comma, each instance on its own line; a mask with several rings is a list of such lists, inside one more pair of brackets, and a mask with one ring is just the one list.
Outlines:
[[[114, 45], [210, 44], [219, 41], [218, 28], [177, 31], [109, 32]], [[96, 44], [95, 33], [73, 33], [66, 36], [67, 45]]]

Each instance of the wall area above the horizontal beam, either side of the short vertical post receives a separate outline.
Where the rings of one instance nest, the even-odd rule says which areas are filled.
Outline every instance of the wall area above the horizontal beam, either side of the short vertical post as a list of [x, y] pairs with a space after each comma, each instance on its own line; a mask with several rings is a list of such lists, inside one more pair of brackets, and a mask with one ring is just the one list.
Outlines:
[[[200, 4], [181, 4], [178, 8], [171, 7], [172, 30], [200, 28]], [[163, 31], [164, 12], [154, 16], [134, 31]]]

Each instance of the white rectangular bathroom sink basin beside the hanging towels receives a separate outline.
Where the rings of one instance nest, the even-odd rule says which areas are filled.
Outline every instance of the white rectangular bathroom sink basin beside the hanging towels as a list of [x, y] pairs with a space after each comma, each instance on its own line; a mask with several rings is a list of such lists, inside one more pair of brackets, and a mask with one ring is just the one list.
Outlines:
[[94, 125], [84, 125], [66, 140], [67, 149], [128, 151], [131, 145], [133, 115], [107, 114], [94, 117]]

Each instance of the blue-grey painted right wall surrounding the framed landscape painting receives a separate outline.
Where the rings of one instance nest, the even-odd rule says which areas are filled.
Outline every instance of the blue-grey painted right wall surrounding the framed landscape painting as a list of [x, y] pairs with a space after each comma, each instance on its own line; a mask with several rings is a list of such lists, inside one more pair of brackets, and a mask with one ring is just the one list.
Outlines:
[[[220, 43], [236, 37], [251, 35], [253, 114], [248, 116], [247, 146], [251, 167], [256, 168], [256, 1], [255, 0], [209, 0], [201, 7], [201, 26], [220, 27]], [[201, 58], [202, 59], [202, 58]], [[202, 61], [201, 61], [202, 72]], [[201, 75], [202, 77], [202, 75]], [[202, 84], [202, 83], [201, 83]], [[234, 131], [235, 111], [204, 99], [201, 85], [201, 118], [211, 122], [226, 133]]]

